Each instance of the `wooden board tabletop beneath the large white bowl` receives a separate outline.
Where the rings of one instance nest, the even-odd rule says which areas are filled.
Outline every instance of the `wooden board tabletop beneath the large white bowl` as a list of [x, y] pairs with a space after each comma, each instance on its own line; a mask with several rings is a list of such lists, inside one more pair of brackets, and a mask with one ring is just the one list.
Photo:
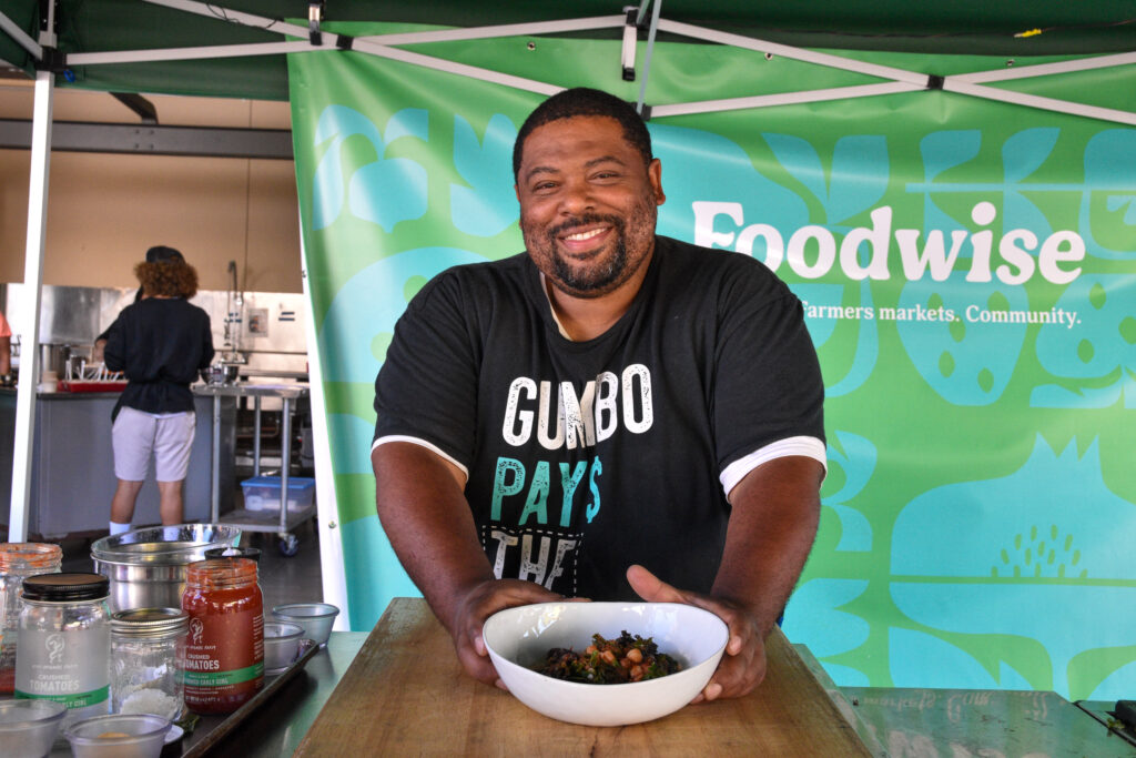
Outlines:
[[295, 756], [871, 755], [779, 630], [766, 652], [766, 681], [745, 698], [646, 724], [576, 726], [471, 680], [426, 602], [396, 598]]

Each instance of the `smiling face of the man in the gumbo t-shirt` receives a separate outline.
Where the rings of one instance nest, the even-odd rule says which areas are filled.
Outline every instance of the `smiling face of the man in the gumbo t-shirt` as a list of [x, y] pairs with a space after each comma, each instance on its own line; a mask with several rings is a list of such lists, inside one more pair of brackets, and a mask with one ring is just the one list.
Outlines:
[[660, 175], [659, 161], [644, 165], [613, 118], [575, 116], [533, 130], [517, 200], [537, 268], [573, 297], [619, 289], [654, 249], [657, 206], [666, 200]]

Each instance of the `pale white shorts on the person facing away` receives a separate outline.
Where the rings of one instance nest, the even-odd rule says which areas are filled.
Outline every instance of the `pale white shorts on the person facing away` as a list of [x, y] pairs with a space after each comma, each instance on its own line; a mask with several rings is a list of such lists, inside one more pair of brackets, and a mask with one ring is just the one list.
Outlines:
[[115, 447], [115, 476], [126, 482], [144, 482], [153, 455], [156, 478], [181, 482], [190, 470], [190, 449], [197, 423], [192, 410], [148, 414], [125, 406], [119, 408], [110, 435]]

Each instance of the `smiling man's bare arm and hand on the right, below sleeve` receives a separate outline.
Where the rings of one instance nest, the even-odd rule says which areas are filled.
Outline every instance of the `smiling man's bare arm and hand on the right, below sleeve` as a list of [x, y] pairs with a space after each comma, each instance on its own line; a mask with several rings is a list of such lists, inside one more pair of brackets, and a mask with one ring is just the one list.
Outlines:
[[804, 457], [776, 458], [730, 491], [721, 565], [709, 595], [679, 590], [642, 566], [627, 580], [644, 599], [705, 608], [729, 626], [726, 655], [702, 697], [736, 698], [766, 675], [765, 638], [777, 622], [812, 548], [824, 467]]

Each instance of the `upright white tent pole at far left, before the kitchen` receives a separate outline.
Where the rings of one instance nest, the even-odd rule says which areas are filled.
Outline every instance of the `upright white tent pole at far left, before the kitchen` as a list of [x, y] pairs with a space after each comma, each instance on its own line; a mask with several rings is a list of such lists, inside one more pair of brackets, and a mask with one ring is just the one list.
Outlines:
[[[55, 47], [55, 10], [48, 3], [48, 27], [40, 43]], [[51, 164], [51, 108], [56, 76], [35, 75], [32, 122], [32, 170], [27, 189], [27, 239], [24, 245], [24, 286], [19, 300], [19, 386], [16, 390], [16, 436], [12, 441], [11, 501], [8, 541], [27, 539], [32, 500], [32, 460], [35, 449], [35, 391], [40, 375], [40, 301], [43, 285], [43, 248], [48, 223], [48, 176]]]

